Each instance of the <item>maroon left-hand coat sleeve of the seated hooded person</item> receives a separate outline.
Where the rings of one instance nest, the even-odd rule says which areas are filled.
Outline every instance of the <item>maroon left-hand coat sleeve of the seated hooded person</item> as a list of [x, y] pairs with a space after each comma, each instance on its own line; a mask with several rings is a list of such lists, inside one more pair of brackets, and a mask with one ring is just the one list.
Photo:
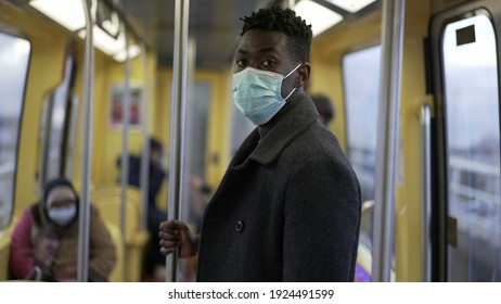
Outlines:
[[11, 235], [10, 267], [16, 279], [24, 279], [36, 263], [31, 244], [33, 218], [27, 208]]

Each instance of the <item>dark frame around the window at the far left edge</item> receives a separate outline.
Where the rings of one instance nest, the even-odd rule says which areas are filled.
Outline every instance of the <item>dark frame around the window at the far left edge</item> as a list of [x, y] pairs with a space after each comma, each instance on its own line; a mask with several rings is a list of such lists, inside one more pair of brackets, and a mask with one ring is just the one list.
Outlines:
[[[23, 116], [24, 116], [24, 111], [25, 111], [25, 105], [26, 105], [26, 91], [27, 91], [27, 85], [28, 85], [28, 79], [29, 79], [29, 73], [30, 73], [30, 65], [31, 65], [31, 53], [33, 53], [33, 43], [29, 40], [29, 38], [17, 31], [15, 28], [8, 27], [5, 25], [0, 25], [0, 35], [8, 36], [10, 38], [14, 39], [22, 39], [24, 42], [27, 43], [27, 53], [25, 54], [25, 58], [23, 59], [25, 62], [25, 69], [24, 69], [24, 76], [20, 77], [22, 78], [22, 88], [20, 91], [20, 105], [18, 105], [18, 113], [15, 115], [15, 118], [17, 123], [15, 124], [15, 130], [16, 130], [16, 136], [15, 136], [15, 148], [13, 150], [14, 152], [14, 157], [13, 157], [13, 164], [14, 167], [12, 168], [12, 187], [11, 189], [11, 199], [10, 202], [7, 202], [4, 205], [0, 205], [0, 229], [3, 229], [8, 227], [13, 218], [14, 214], [14, 207], [15, 207], [15, 199], [16, 199], [16, 186], [17, 186], [17, 167], [18, 167], [18, 161], [20, 161], [20, 143], [21, 143], [21, 127], [23, 125]], [[20, 79], [21, 80], [21, 79]], [[0, 144], [1, 148], [1, 144]], [[2, 197], [4, 197], [4, 193], [2, 193]], [[8, 210], [8, 212], [4, 212], [3, 208]], [[7, 216], [5, 216], [7, 215]]]

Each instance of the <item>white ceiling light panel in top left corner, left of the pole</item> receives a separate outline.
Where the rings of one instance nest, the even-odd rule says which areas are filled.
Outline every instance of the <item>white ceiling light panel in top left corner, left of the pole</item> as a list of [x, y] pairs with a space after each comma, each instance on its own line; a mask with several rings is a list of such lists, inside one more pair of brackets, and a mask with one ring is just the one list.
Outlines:
[[81, 0], [31, 0], [29, 5], [72, 31], [86, 26]]

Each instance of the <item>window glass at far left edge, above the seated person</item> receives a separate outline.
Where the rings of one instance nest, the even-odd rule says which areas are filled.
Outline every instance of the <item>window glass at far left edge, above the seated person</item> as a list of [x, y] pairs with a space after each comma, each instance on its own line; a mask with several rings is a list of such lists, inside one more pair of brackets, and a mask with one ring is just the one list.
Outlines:
[[17, 147], [30, 45], [0, 33], [0, 227], [9, 224], [14, 205]]

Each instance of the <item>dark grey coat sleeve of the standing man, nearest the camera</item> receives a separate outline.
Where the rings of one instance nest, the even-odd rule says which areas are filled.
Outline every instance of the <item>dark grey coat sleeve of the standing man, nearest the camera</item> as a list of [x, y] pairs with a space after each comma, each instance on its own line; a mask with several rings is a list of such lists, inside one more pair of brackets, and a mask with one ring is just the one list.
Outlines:
[[355, 174], [335, 159], [306, 161], [291, 175], [284, 202], [284, 281], [354, 281], [360, 200]]

